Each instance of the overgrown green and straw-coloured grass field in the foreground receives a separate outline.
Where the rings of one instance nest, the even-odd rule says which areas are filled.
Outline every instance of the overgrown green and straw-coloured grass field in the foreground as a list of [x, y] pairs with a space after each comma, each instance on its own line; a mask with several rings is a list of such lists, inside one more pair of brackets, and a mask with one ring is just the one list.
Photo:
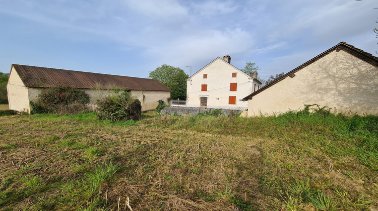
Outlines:
[[378, 208], [378, 117], [0, 117], [2, 210]]

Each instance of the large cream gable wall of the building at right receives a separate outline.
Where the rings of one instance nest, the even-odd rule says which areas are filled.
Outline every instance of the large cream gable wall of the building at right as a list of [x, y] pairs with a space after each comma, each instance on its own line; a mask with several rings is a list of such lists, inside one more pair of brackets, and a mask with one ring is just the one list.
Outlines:
[[342, 114], [378, 115], [378, 67], [343, 50], [331, 52], [253, 96], [248, 116], [302, 110], [304, 104]]

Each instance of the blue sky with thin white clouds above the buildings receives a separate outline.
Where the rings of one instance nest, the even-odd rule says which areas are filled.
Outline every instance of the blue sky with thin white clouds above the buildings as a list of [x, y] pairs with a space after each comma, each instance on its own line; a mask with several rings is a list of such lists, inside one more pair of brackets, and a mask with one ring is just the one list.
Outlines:
[[0, 0], [0, 71], [11, 64], [148, 77], [231, 56], [260, 76], [288, 72], [339, 42], [373, 55], [375, 0]]

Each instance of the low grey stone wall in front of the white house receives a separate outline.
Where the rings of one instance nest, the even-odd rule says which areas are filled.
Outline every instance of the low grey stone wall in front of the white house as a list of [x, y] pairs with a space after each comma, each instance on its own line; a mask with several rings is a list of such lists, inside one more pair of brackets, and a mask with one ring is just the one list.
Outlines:
[[[192, 108], [192, 107], [166, 107], [161, 110], [161, 114], [170, 114], [170, 115], [180, 115], [180, 116], [185, 116], [185, 115], [196, 115], [201, 113], [205, 113], [206, 111], [210, 111], [214, 109], [205, 109], [205, 108]], [[246, 111], [240, 111], [240, 110], [225, 110], [225, 109], [220, 109], [222, 111], [222, 114], [224, 115], [229, 115], [231, 112], [234, 114], [240, 114], [241, 116], [246, 116]]]

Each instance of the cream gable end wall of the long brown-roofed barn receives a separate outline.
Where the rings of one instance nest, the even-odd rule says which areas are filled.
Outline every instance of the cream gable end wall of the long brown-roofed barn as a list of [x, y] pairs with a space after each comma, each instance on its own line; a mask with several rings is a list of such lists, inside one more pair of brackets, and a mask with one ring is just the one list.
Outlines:
[[28, 88], [24, 86], [17, 71], [12, 67], [8, 84], [9, 109], [30, 112]]

